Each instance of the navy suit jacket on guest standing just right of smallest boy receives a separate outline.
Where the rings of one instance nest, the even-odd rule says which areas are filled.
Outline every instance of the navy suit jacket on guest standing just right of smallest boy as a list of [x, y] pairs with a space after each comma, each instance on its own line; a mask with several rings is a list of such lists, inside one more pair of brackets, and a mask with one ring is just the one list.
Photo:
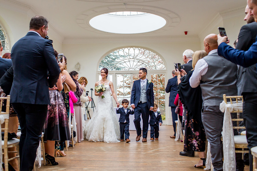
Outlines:
[[169, 106], [172, 107], [176, 107], [176, 105], [174, 105], [174, 100], [176, 98], [176, 95], [178, 94], [178, 86], [176, 84], [177, 80], [177, 76], [170, 78], [165, 88], [166, 93], [170, 93]]

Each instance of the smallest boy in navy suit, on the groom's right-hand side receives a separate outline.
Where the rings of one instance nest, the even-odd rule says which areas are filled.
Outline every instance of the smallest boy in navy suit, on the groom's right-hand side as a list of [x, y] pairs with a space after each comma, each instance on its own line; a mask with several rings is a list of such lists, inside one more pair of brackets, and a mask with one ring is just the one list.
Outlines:
[[157, 112], [157, 108], [158, 105], [156, 103], [154, 103], [154, 107], [152, 109], [152, 111], [150, 111], [150, 120], [149, 120], [149, 124], [150, 124], [150, 140], [154, 141], [154, 137], [155, 140], [158, 140], [159, 137], [159, 125], [162, 125], [162, 116], [160, 114], [160, 112]]

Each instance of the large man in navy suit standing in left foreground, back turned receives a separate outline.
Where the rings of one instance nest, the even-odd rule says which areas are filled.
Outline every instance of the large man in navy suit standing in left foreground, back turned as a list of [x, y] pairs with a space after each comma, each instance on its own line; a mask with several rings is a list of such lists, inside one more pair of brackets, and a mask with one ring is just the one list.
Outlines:
[[35, 16], [29, 32], [12, 48], [13, 84], [11, 103], [17, 112], [21, 137], [19, 143], [20, 170], [33, 169], [43, 125], [50, 104], [49, 87], [54, 87], [61, 72], [55, 59], [53, 45], [45, 39], [48, 20]]

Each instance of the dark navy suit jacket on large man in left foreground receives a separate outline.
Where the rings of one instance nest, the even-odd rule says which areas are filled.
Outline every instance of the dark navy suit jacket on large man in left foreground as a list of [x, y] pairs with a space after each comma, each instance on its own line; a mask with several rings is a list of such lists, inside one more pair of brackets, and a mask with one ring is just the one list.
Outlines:
[[61, 72], [51, 41], [28, 32], [13, 45], [11, 59], [11, 103], [50, 104], [49, 87], [56, 84]]

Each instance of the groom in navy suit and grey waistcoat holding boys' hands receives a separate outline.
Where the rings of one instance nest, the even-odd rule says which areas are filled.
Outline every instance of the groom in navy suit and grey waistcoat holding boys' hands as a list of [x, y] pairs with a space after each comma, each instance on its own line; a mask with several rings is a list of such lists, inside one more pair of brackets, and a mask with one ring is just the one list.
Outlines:
[[143, 140], [146, 142], [147, 131], [148, 131], [148, 121], [149, 121], [149, 111], [152, 110], [154, 106], [154, 93], [153, 84], [146, 79], [147, 70], [145, 68], [139, 69], [139, 78], [133, 83], [131, 91], [131, 107], [134, 109], [134, 124], [136, 127], [136, 141], [140, 140], [141, 137], [141, 127], [140, 127], [140, 115], [142, 113], [143, 119]]

